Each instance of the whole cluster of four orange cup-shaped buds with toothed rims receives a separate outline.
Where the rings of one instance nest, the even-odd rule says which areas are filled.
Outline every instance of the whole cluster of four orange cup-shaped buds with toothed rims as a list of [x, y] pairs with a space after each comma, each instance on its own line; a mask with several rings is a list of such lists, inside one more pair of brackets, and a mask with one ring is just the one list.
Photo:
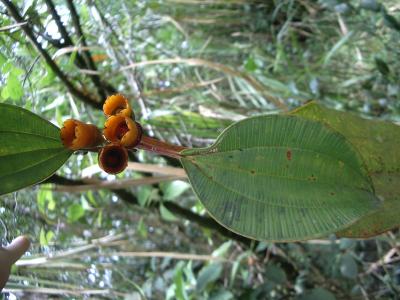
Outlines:
[[[128, 165], [127, 148], [136, 147], [142, 138], [142, 127], [128, 100], [121, 94], [108, 97], [103, 105], [107, 116], [103, 135], [109, 143], [99, 151], [99, 166], [109, 174], [118, 174]], [[99, 129], [90, 124], [69, 119], [61, 128], [61, 140], [71, 150], [88, 149], [104, 142]]]

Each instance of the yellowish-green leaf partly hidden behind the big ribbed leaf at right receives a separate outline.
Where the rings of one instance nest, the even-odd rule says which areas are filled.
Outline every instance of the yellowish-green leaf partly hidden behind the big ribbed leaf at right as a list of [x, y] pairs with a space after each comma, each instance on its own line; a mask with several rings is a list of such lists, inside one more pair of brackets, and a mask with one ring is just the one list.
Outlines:
[[400, 226], [400, 126], [328, 109], [315, 102], [292, 114], [320, 121], [344, 135], [361, 154], [380, 208], [338, 236], [367, 238]]

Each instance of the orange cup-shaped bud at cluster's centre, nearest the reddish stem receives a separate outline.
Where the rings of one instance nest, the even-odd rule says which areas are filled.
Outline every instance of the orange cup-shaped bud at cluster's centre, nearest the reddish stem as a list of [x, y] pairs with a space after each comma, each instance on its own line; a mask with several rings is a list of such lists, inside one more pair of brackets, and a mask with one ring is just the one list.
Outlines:
[[104, 124], [103, 134], [110, 142], [132, 148], [138, 145], [142, 138], [142, 127], [131, 118], [122, 115], [111, 116]]

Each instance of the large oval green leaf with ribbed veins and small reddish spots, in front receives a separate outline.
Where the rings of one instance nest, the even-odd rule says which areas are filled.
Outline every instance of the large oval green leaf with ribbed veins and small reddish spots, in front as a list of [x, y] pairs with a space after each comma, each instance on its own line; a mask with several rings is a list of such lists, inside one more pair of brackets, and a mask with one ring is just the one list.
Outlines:
[[360, 155], [320, 122], [253, 117], [228, 127], [209, 148], [182, 155], [208, 212], [259, 240], [325, 236], [378, 203]]

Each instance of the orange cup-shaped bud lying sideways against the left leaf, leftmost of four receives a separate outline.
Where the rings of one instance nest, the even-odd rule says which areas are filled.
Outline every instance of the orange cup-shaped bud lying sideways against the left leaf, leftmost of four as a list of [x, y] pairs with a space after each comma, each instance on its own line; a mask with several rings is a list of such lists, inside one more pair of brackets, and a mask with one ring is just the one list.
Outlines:
[[95, 125], [74, 119], [64, 121], [60, 137], [64, 147], [71, 150], [92, 148], [103, 142], [101, 132]]

